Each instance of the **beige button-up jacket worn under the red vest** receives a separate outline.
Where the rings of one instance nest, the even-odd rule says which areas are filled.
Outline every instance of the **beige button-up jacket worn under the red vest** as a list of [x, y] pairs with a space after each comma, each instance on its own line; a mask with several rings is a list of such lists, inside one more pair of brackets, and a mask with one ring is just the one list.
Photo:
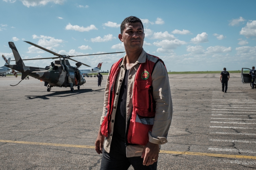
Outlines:
[[[146, 55], [148, 55], [144, 50], [142, 50], [140, 57], [138, 58], [137, 62], [134, 63], [132, 68], [129, 71], [129, 77], [128, 77], [128, 87], [127, 87], [127, 101], [126, 101], [126, 124], [128, 121], [128, 118], [131, 114], [132, 109], [132, 92], [133, 92], [133, 85], [135, 80], [135, 74], [136, 71], [139, 68], [139, 63], [145, 63], [146, 62]], [[118, 73], [117, 79], [116, 79], [116, 89], [115, 93], [119, 94], [120, 87], [122, 85], [122, 81], [119, 81], [120, 79], [124, 79], [124, 73], [125, 73], [125, 57], [120, 65], [120, 71]], [[171, 89], [169, 84], [169, 78], [168, 73], [164, 67], [164, 64], [161, 62], [156, 63], [155, 70], [153, 71], [152, 76], [152, 86], [153, 86], [153, 97], [156, 101], [156, 115], [154, 119], [154, 125], [152, 128], [152, 132], [148, 132], [149, 136], [149, 142], [154, 144], [159, 144], [161, 147], [161, 144], [167, 143], [167, 134], [168, 130], [171, 125], [172, 121], [172, 97], [171, 97]], [[103, 113], [100, 120], [100, 125], [102, 124], [105, 116], [105, 109], [108, 105], [108, 93], [109, 93], [109, 75], [106, 83], [106, 89], [105, 89], [105, 98], [104, 98], [104, 107], [103, 107]], [[114, 98], [114, 107], [117, 106], [118, 102], [118, 95], [115, 95]], [[113, 109], [111, 120], [115, 121], [115, 115], [116, 115], [116, 109]], [[111, 139], [114, 129], [114, 123], [109, 124], [109, 136], [106, 139], [104, 143], [104, 149], [109, 153], [110, 151], [110, 145], [111, 145]], [[142, 145], [128, 145], [126, 147], [126, 156], [127, 157], [134, 157], [134, 156], [141, 156], [141, 153], [143, 151], [144, 146]]]

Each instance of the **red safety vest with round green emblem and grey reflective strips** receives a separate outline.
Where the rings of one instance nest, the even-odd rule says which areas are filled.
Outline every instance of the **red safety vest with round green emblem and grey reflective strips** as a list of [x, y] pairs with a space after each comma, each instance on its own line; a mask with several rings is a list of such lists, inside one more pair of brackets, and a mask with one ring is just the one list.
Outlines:
[[[123, 58], [113, 64], [110, 70], [108, 106], [101, 125], [101, 133], [106, 138], [109, 135], [109, 124], [113, 123], [111, 122], [111, 115], [114, 108], [116, 78], [122, 61]], [[148, 132], [152, 131], [156, 114], [151, 75], [156, 63], [159, 61], [164, 64], [158, 57], [147, 54], [146, 62], [140, 63], [136, 72], [132, 97], [132, 114], [129, 116], [125, 132], [126, 145], [146, 145], [148, 143]]]

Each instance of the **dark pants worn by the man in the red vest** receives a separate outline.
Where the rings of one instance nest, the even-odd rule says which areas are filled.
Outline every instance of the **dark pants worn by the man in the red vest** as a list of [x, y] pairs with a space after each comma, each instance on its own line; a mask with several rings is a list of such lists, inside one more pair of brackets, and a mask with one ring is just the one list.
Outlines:
[[127, 158], [124, 141], [113, 137], [110, 152], [106, 152], [103, 148], [100, 170], [127, 170], [131, 165], [134, 170], [156, 170], [157, 162], [149, 166], [142, 163], [143, 158], [140, 156]]

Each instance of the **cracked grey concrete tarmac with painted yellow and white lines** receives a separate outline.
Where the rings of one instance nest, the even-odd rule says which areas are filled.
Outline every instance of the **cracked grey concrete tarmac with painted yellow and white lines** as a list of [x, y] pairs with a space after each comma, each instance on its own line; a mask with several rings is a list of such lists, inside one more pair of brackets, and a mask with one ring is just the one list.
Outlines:
[[[93, 149], [104, 90], [85, 78], [80, 90], [53, 87], [30, 77], [0, 77], [0, 169], [100, 169]], [[256, 89], [230, 74], [169, 75], [173, 117], [157, 169], [256, 168]], [[133, 169], [132, 167], [129, 168]]]

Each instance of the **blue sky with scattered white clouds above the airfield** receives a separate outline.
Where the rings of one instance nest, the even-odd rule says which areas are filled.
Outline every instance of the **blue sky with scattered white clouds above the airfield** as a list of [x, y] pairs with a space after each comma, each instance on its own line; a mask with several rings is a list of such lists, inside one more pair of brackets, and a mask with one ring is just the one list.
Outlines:
[[[64, 55], [124, 51], [118, 39], [120, 24], [136, 16], [144, 24], [143, 48], [160, 57], [168, 71], [241, 70], [256, 65], [255, 8], [254, 0], [0, 0], [0, 54], [13, 58], [8, 41], [15, 43], [22, 58], [53, 56], [23, 41]], [[109, 70], [121, 57], [74, 59], [92, 67], [103, 62], [102, 70]], [[51, 62], [24, 61], [39, 67]]]

